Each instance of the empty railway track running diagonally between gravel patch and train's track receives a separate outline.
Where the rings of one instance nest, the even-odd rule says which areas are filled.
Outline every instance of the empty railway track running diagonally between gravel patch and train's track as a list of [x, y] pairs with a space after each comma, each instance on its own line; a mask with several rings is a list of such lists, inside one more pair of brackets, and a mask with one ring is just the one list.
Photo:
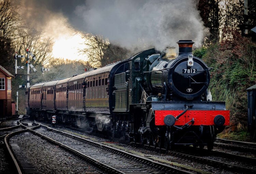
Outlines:
[[121, 173], [191, 173], [46, 126], [35, 129], [35, 131], [81, 154], [87, 154], [95, 160], [108, 164]]

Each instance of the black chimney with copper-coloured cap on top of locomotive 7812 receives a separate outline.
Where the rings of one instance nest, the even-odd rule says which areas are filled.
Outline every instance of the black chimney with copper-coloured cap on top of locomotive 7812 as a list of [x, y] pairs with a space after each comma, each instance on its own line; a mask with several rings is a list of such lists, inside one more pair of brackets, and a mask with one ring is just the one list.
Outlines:
[[179, 42], [176, 43], [179, 45], [178, 57], [192, 56], [192, 46], [195, 42], [192, 40], [179, 40]]

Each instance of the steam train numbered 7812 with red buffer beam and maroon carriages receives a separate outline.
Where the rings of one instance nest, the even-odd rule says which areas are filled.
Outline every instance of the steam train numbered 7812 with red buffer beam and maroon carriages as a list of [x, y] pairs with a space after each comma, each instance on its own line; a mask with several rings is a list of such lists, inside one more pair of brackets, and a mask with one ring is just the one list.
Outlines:
[[107, 132], [114, 137], [170, 149], [209, 150], [229, 125], [225, 102], [211, 101], [209, 67], [193, 56], [191, 40], [179, 54], [144, 50], [129, 59], [26, 89], [27, 114], [35, 119]]

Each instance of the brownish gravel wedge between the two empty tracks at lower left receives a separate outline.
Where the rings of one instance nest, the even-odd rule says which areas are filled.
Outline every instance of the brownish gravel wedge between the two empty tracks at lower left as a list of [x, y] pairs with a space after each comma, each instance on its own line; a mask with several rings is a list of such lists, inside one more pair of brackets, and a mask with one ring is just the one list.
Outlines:
[[32, 133], [15, 135], [11, 140], [17, 142], [21, 153], [40, 173], [102, 173], [93, 165]]

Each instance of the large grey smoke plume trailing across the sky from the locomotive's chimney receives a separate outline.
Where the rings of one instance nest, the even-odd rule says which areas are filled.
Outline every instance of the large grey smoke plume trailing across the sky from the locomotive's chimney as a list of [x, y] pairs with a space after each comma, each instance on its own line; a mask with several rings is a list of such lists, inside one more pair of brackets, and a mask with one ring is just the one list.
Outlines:
[[23, 15], [33, 26], [52, 30], [50, 33], [54, 34], [60, 33], [58, 30], [63, 25], [64, 28], [69, 26], [101, 34], [112, 43], [127, 48], [155, 46], [164, 49], [176, 47], [176, 42], [182, 39], [193, 40], [195, 46], [200, 46], [207, 32], [196, 9], [197, 0], [21, 2]]

